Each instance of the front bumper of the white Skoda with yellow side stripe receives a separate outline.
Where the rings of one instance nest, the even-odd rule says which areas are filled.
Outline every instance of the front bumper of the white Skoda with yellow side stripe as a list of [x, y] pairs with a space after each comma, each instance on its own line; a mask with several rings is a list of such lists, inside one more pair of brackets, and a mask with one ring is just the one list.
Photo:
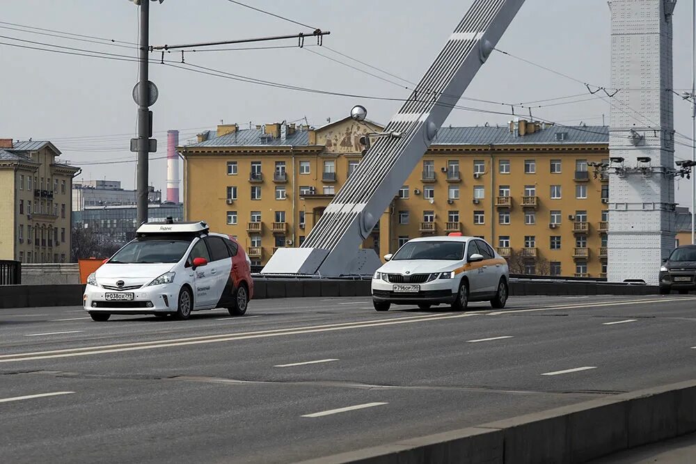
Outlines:
[[[390, 282], [372, 279], [372, 300], [396, 305], [418, 305], [422, 303], [451, 304], [457, 298], [458, 279], [438, 279], [420, 285], [418, 293], [401, 293], [393, 291]], [[399, 284], [397, 284], [399, 285]]]

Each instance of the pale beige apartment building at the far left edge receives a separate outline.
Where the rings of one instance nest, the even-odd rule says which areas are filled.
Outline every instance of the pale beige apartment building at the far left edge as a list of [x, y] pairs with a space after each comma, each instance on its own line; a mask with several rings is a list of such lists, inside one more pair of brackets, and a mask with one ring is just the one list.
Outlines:
[[0, 139], [0, 259], [70, 261], [72, 177], [50, 142]]

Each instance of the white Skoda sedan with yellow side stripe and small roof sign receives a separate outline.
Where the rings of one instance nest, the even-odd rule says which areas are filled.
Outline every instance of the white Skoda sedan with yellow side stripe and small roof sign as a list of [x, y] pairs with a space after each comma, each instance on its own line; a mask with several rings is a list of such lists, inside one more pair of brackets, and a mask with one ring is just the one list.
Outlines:
[[484, 240], [450, 235], [404, 243], [372, 276], [372, 303], [387, 311], [392, 303], [427, 309], [447, 303], [465, 310], [470, 301], [505, 307], [509, 269], [505, 258]]

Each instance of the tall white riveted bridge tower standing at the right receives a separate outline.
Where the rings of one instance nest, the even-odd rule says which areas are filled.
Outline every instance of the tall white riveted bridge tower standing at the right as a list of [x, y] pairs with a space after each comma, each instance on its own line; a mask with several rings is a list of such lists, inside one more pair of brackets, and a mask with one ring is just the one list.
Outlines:
[[677, 0], [611, 0], [608, 280], [657, 285], [674, 248], [672, 12]]

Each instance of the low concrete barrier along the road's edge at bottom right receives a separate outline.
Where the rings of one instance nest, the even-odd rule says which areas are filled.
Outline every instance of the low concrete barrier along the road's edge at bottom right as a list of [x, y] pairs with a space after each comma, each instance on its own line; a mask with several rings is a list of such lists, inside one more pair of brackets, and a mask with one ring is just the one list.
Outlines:
[[584, 463], [694, 431], [696, 381], [687, 381], [302, 464]]

